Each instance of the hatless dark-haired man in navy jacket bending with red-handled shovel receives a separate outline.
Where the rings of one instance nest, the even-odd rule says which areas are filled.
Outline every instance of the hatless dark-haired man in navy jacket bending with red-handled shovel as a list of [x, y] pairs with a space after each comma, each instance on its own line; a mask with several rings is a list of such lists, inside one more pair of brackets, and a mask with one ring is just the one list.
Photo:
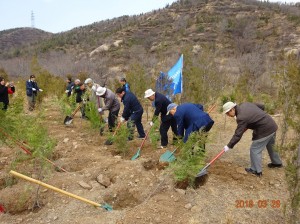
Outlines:
[[124, 110], [122, 117], [120, 118], [120, 122], [128, 121], [127, 127], [131, 131], [128, 140], [133, 139], [134, 126], [136, 126], [139, 133], [138, 138], [145, 138], [146, 135], [142, 125], [144, 110], [139, 100], [133, 93], [126, 92], [123, 87], [118, 88], [116, 90], [116, 94], [121, 98], [121, 102], [124, 104]]

